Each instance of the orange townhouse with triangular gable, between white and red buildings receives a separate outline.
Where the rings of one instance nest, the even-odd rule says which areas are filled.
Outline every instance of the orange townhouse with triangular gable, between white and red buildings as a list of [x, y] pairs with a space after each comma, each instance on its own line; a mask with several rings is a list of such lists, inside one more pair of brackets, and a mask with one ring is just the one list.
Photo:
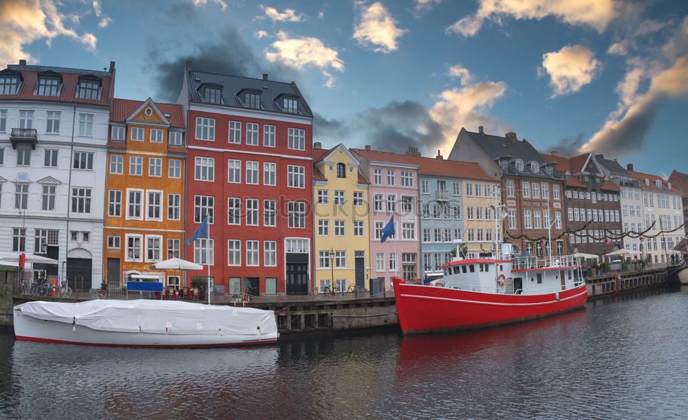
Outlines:
[[182, 273], [149, 267], [183, 258], [185, 161], [180, 105], [113, 100], [104, 215], [108, 283], [141, 278], [182, 285]]

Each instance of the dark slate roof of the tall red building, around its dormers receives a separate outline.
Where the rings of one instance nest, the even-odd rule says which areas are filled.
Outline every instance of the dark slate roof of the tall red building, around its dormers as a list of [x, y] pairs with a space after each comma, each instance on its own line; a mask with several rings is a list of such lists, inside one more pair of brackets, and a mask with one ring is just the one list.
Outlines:
[[[239, 93], [244, 89], [260, 92], [261, 109], [264, 111], [286, 113], [278, 102], [280, 96], [298, 98], [299, 113], [312, 117], [313, 113], [301, 95], [296, 83], [277, 82], [275, 80], [255, 79], [243, 76], [230, 76], [228, 74], [207, 73], [205, 71], [187, 71], [189, 81], [189, 100], [191, 102], [203, 102], [199, 88], [204, 84], [222, 86], [222, 100], [228, 107], [246, 108], [239, 100]], [[222, 106], [222, 105], [220, 105]]]

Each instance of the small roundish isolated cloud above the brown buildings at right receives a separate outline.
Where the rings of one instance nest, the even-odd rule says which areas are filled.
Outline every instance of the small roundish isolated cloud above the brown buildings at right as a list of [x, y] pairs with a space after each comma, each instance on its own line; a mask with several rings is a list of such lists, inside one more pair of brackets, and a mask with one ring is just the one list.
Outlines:
[[550, 76], [550, 86], [554, 89], [552, 98], [555, 98], [581, 90], [592, 82], [600, 67], [601, 63], [588, 47], [574, 45], [543, 54], [539, 72]]

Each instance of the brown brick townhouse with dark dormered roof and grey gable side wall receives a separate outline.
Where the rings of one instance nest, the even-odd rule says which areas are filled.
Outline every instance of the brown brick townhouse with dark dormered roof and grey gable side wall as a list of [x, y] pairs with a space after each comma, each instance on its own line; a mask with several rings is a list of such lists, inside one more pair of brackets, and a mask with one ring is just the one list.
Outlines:
[[501, 179], [506, 239], [519, 250], [537, 256], [550, 249], [552, 256], [570, 252], [563, 236], [566, 179], [532, 144], [518, 140], [516, 133], [501, 137], [484, 133], [482, 126], [477, 133], [462, 128], [449, 159], [477, 162], [487, 175]]

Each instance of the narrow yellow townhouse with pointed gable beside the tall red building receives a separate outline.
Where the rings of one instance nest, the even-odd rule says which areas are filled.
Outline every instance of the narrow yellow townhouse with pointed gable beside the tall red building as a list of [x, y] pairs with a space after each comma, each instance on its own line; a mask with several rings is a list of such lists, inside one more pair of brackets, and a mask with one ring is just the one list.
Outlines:
[[313, 146], [313, 230], [318, 293], [367, 289], [370, 251], [369, 181], [342, 144]]

